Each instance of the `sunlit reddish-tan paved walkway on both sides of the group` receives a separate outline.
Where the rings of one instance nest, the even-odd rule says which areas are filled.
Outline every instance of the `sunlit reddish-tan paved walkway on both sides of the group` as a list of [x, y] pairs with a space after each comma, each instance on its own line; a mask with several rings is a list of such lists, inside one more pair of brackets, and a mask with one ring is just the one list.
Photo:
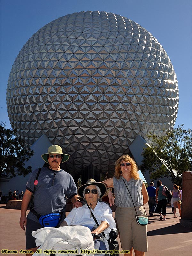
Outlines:
[[[146, 209], [147, 210], [147, 209]], [[178, 209], [177, 209], [178, 212]], [[115, 214], [115, 213], [113, 213]], [[177, 213], [179, 216], [179, 213]], [[2, 253], [2, 249], [25, 249], [25, 232], [19, 225], [20, 210], [6, 209], [0, 205], [0, 248], [1, 256], [15, 256], [21, 253]], [[191, 256], [192, 233], [190, 228], [184, 228], [179, 223], [180, 218], [174, 218], [171, 206], [168, 205], [166, 221], [159, 220], [159, 216], [149, 217], [148, 248], [146, 256]], [[140, 239], [138, 235], [138, 239]], [[120, 254], [122, 256], [123, 254]], [[134, 255], [134, 253], [133, 253]]]

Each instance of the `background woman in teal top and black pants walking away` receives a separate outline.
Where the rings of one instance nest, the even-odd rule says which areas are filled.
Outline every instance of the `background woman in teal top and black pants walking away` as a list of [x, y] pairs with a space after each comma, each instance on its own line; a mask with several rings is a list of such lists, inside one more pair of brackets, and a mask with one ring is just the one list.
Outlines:
[[160, 220], [162, 220], [162, 215], [163, 215], [163, 220], [166, 220], [166, 207], [167, 207], [167, 197], [162, 195], [162, 189], [163, 185], [161, 180], [157, 180], [157, 188], [156, 188], [156, 202], [159, 206], [159, 214], [160, 214]]

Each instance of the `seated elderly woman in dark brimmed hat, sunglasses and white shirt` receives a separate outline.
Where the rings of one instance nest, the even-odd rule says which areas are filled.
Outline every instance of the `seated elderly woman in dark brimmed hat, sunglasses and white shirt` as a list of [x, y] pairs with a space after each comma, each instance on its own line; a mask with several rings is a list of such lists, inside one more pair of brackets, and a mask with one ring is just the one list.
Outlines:
[[[89, 179], [86, 184], [78, 188], [78, 195], [87, 201], [82, 207], [74, 208], [61, 223], [62, 226], [81, 225], [88, 227], [92, 234], [99, 234], [101, 239], [95, 239], [94, 248], [108, 250], [108, 239], [111, 229], [116, 229], [115, 220], [108, 204], [100, 202], [107, 191], [105, 184]], [[92, 217], [95, 216], [99, 226]], [[101, 234], [104, 232], [105, 237]]]

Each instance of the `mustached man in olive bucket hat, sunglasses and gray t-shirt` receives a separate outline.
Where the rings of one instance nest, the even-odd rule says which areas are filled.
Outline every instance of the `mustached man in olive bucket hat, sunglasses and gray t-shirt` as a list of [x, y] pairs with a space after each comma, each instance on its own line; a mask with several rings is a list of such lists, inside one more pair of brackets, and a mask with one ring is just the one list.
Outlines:
[[[66, 162], [69, 159], [69, 155], [63, 154], [60, 146], [52, 145], [48, 148], [48, 152], [41, 157], [48, 164], [48, 167], [41, 168], [38, 179], [37, 173], [39, 169], [32, 172], [26, 184], [26, 191], [21, 204], [20, 227], [23, 230], [26, 228], [26, 249], [33, 252], [36, 252], [37, 247], [31, 232], [43, 228], [39, 223], [36, 213], [42, 216], [59, 212], [62, 221], [65, 218], [68, 198], [71, 199], [73, 206], [76, 208], [83, 205], [77, 195], [76, 184], [72, 176], [60, 169], [60, 164]], [[26, 211], [35, 185], [34, 206], [26, 217]]]

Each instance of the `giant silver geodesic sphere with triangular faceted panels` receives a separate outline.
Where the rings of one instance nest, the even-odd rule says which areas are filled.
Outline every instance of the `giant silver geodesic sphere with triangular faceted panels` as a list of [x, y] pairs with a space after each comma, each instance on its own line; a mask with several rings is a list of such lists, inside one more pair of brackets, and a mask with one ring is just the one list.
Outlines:
[[7, 109], [31, 146], [45, 134], [70, 155], [68, 169], [109, 170], [140, 135], [175, 123], [177, 78], [161, 44], [120, 15], [76, 12], [40, 28], [22, 47]]

